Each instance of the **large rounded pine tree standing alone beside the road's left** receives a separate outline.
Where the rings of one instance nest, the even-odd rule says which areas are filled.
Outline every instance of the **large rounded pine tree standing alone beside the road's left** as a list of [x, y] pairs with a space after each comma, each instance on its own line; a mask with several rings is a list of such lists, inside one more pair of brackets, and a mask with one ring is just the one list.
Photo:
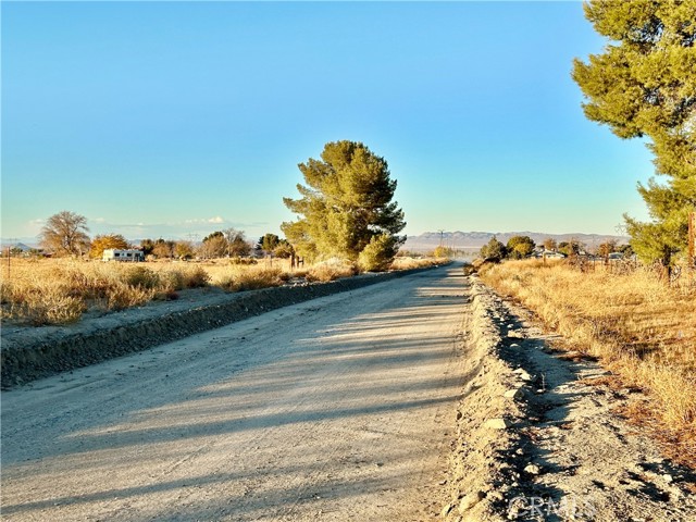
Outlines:
[[[339, 257], [358, 260], [365, 247], [383, 246], [393, 258], [405, 238], [403, 212], [394, 198], [396, 181], [384, 158], [356, 141], [324, 146], [321, 160], [309, 159], [299, 170], [300, 199], [284, 198], [300, 217], [281, 228], [296, 251], [309, 260]], [[385, 237], [383, 237], [385, 236]]]

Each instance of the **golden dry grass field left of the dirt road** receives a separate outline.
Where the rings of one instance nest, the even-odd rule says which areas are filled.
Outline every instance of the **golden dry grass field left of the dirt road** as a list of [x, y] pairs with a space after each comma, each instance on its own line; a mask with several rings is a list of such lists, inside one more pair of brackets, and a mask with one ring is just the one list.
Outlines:
[[[395, 270], [445, 260], [395, 261]], [[177, 290], [219, 286], [227, 291], [279, 286], [295, 277], [328, 282], [350, 277], [353, 264], [328, 260], [291, 269], [285, 259], [254, 264], [216, 259], [204, 262], [103, 263], [69, 259], [12, 259], [10, 276], [0, 266], [0, 316], [30, 325], [65, 324], [89, 309], [122, 310], [153, 299], [175, 299]]]

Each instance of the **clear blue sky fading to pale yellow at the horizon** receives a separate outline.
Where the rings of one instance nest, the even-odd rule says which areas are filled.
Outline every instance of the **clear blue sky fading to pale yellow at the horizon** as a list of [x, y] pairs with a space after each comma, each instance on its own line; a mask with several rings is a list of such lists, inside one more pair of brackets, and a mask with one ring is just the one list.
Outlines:
[[328, 141], [388, 162], [405, 233], [620, 231], [638, 140], [584, 117], [564, 2], [1, 4], [1, 235], [282, 235]]

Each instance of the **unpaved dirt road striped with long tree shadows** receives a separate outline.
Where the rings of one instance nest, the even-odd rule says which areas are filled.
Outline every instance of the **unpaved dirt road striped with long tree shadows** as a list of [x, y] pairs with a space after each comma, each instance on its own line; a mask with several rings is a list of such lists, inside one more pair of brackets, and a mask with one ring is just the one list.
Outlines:
[[463, 294], [432, 270], [4, 391], [2, 519], [434, 518]]

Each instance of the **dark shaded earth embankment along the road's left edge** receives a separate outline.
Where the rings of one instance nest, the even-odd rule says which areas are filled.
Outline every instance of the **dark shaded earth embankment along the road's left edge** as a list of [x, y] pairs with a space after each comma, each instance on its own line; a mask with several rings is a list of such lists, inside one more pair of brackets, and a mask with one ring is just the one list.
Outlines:
[[151, 302], [66, 326], [3, 325], [2, 387], [151, 348], [269, 310], [347, 291], [430, 269], [365, 274], [331, 283], [227, 294], [189, 290], [188, 299]]

